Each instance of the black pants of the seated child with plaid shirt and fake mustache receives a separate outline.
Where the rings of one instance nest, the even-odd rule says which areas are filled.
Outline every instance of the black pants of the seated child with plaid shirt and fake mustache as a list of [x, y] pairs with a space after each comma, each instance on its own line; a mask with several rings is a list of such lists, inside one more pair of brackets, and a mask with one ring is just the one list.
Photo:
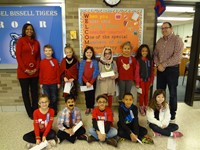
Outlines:
[[80, 135], [85, 134], [85, 128], [84, 127], [80, 127], [75, 133], [74, 135], [70, 136], [68, 133], [66, 133], [65, 131], [61, 131], [58, 130], [57, 133], [57, 137], [60, 139], [60, 142], [62, 142], [63, 140], [68, 140], [71, 143], [74, 143], [76, 140], [76, 137], [79, 137]]

